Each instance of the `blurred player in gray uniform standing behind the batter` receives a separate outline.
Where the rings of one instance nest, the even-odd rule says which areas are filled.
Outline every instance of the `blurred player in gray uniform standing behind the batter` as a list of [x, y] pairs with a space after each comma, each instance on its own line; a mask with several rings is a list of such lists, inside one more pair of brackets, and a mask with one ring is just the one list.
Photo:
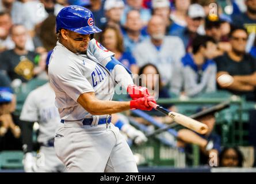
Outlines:
[[[48, 53], [47, 62], [49, 61]], [[46, 71], [48, 70], [48, 64]], [[57, 158], [54, 150], [54, 135], [60, 122], [58, 109], [54, 105], [55, 93], [51, 85], [45, 85], [31, 91], [26, 98], [21, 111], [20, 120], [24, 121], [23, 125], [23, 148], [24, 170], [30, 172], [62, 172], [64, 164]], [[34, 122], [39, 123], [39, 136], [37, 141], [40, 144], [39, 156], [36, 160], [32, 154], [32, 127]]]

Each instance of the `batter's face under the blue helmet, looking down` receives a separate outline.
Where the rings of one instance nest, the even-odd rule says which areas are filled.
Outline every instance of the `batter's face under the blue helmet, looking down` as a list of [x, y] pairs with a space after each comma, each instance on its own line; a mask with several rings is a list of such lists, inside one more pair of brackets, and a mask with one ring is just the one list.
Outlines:
[[68, 42], [68, 49], [70, 49], [74, 53], [86, 53], [90, 41], [90, 34], [79, 34], [67, 30], [66, 36]]

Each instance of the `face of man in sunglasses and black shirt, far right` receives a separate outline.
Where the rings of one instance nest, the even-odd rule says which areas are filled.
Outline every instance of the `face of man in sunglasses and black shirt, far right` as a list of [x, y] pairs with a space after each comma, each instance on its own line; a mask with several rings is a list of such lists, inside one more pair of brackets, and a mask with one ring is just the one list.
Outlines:
[[247, 33], [244, 30], [236, 30], [232, 33], [230, 43], [234, 52], [244, 53], [247, 43]]

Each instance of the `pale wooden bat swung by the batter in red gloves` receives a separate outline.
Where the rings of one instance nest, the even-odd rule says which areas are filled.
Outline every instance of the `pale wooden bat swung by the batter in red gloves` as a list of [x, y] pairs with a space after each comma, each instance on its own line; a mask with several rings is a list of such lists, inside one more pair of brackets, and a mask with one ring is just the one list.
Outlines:
[[207, 125], [205, 125], [199, 121], [193, 120], [192, 118], [190, 118], [188, 116], [184, 116], [183, 114], [171, 112], [170, 110], [167, 110], [158, 104], [154, 104], [153, 102], [148, 102], [148, 104], [155, 110], [158, 110], [159, 112], [166, 114], [167, 116], [173, 118], [173, 120], [175, 122], [177, 122], [178, 124], [181, 124], [182, 126], [184, 126], [186, 128], [192, 129], [193, 131], [200, 133], [200, 134], [205, 134], [208, 132]]

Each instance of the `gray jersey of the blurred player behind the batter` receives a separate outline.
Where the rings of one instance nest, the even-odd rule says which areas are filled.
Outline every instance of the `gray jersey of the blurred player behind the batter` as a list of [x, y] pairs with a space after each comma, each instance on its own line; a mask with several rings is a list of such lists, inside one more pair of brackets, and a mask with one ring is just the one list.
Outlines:
[[47, 143], [54, 138], [60, 117], [54, 105], [55, 93], [49, 83], [31, 91], [26, 98], [21, 111], [23, 121], [39, 122], [39, 136], [37, 141]]

